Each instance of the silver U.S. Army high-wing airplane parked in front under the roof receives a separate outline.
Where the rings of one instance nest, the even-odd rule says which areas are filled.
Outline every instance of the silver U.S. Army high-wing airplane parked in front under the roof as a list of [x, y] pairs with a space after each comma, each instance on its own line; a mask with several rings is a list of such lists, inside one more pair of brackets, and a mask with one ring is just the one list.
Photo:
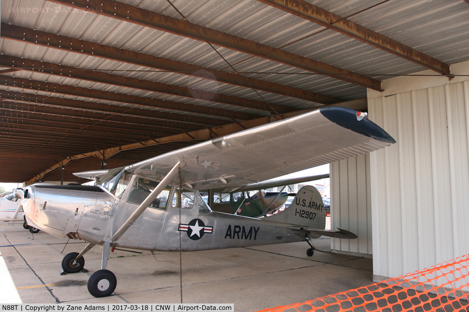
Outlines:
[[313, 238], [357, 238], [348, 230], [325, 230], [323, 201], [313, 186], [300, 189], [289, 208], [263, 218], [213, 211], [198, 190], [264, 181], [395, 143], [365, 114], [323, 107], [111, 169], [94, 186], [33, 185], [17, 193], [28, 224], [89, 242], [63, 258], [63, 273], [81, 271], [83, 255], [102, 245], [101, 269], [88, 280], [94, 297], [116, 288], [116, 276], [106, 270], [114, 248], [177, 252], [304, 241], [312, 256]]

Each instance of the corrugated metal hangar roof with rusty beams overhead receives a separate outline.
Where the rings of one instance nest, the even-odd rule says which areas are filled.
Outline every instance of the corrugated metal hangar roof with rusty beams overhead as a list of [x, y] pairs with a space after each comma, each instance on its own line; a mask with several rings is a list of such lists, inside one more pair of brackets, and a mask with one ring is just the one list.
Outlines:
[[[4, 0], [2, 182], [65, 180], [469, 60], [464, 0]], [[358, 103], [358, 102], [357, 102]]]

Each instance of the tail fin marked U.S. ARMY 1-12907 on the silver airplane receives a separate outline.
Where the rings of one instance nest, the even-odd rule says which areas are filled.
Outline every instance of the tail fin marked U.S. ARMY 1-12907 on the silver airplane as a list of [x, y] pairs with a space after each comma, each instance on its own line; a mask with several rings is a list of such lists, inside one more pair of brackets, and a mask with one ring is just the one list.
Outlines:
[[266, 220], [299, 225], [308, 229], [325, 229], [325, 210], [321, 195], [314, 186], [303, 186], [291, 205]]

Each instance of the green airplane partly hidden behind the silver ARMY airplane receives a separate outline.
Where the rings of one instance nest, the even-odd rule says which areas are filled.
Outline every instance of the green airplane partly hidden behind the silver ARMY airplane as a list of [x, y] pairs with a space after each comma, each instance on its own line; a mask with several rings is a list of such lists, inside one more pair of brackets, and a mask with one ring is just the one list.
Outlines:
[[[284, 192], [286, 186], [323, 178], [329, 178], [329, 173], [299, 178], [269, 180], [243, 186], [214, 189], [204, 193], [208, 193], [208, 204], [213, 211], [257, 218], [284, 207], [288, 196], [296, 195], [295, 193]], [[280, 192], [264, 191], [265, 189], [279, 186], [283, 186]], [[251, 191], [255, 192], [251, 194]], [[216, 199], [212, 202], [213, 196]]]

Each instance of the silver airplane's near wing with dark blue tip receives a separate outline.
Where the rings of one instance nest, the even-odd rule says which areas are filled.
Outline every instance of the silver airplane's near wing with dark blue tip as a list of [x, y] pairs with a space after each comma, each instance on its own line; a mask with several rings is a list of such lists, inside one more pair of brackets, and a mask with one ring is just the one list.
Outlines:
[[178, 149], [126, 167], [161, 180], [178, 162], [194, 189], [240, 186], [362, 155], [395, 143], [357, 112], [325, 107]]

